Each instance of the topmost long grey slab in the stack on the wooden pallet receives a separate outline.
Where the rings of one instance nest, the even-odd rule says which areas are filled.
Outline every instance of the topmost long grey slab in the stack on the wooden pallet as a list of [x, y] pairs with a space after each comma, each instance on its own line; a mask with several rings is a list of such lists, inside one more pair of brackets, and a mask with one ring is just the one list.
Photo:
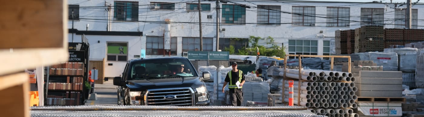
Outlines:
[[401, 71], [359, 71], [362, 78], [402, 78]]

